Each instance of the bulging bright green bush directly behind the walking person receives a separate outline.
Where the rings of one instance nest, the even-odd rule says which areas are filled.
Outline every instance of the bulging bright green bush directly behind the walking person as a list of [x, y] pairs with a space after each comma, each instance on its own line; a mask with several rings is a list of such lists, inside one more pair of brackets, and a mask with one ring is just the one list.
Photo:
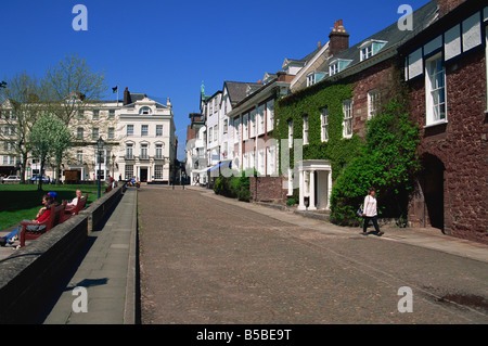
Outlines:
[[393, 99], [367, 125], [365, 143], [335, 181], [331, 220], [357, 225], [356, 210], [374, 187], [378, 213], [404, 217], [412, 177], [420, 169], [416, 156], [419, 129], [409, 119], [406, 103]]

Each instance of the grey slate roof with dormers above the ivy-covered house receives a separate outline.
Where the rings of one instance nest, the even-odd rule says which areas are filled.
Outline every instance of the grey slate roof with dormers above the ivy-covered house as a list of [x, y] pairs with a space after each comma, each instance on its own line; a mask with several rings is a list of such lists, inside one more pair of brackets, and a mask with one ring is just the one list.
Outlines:
[[420, 33], [425, 27], [427, 27], [436, 17], [437, 13], [438, 13], [437, 1], [433, 0], [412, 13], [413, 30], [400, 30], [398, 28], [398, 23], [395, 22], [387, 28], [368, 37], [367, 39], [356, 43], [355, 46], [346, 49], [345, 51], [331, 56], [330, 61], [333, 62], [337, 59], [350, 61], [350, 63], [347, 65], [347, 68], [344, 69], [347, 71], [361, 63], [360, 47], [365, 42], [373, 40], [387, 42], [377, 54], [385, 52], [389, 49], [397, 49], [403, 42], [408, 41], [413, 36], [415, 36], [416, 33]]

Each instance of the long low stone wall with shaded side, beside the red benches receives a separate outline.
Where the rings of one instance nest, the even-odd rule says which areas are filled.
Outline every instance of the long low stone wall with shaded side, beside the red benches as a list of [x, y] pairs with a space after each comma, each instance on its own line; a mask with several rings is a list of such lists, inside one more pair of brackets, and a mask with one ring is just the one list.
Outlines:
[[88, 234], [116, 207], [126, 185], [0, 261], [0, 324], [39, 323], [64, 277], [86, 251]]

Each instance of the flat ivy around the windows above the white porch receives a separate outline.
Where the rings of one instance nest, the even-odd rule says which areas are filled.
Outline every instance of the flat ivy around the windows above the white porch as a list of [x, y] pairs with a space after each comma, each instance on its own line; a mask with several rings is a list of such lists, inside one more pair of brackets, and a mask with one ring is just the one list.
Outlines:
[[[281, 99], [275, 105], [275, 124], [273, 137], [282, 140], [288, 137], [288, 120], [293, 120], [293, 138], [301, 139], [304, 115], [308, 116], [309, 144], [304, 145], [304, 159], [329, 159], [332, 165], [333, 180], [344, 167], [355, 157], [361, 144], [361, 139], [354, 134], [350, 139], [343, 138], [343, 101], [352, 98], [352, 85], [348, 82], [319, 82]], [[329, 111], [329, 140], [321, 138], [321, 110]], [[280, 145], [280, 150], [284, 149]], [[290, 165], [294, 167], [294, 151], [290, 150]], [[280, 166], [281, 171], [283, 168]]]

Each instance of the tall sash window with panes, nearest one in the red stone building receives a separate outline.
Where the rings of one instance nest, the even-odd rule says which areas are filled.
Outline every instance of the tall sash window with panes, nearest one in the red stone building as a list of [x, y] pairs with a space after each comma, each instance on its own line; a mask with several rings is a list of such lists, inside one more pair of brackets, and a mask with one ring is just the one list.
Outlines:
[[440, 54], [425, 62], [426, 125], [446, 121], [446, 69]]

